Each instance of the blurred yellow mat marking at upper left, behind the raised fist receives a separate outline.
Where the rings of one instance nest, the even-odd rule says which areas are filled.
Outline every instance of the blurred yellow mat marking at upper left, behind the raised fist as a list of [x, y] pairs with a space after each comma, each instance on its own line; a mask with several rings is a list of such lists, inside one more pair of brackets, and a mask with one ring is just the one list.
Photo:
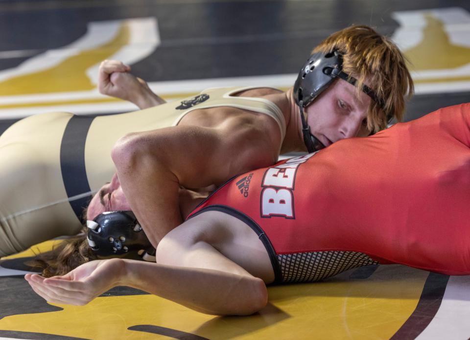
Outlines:
[[86, 70], [109, 58], [130, 41], [128, 24], [121, 24], [116, 37], [95, 49], [84, 50], [44, 71], [19, 75], [0, 82], [2, 96], [91, 90], [96, 86]]

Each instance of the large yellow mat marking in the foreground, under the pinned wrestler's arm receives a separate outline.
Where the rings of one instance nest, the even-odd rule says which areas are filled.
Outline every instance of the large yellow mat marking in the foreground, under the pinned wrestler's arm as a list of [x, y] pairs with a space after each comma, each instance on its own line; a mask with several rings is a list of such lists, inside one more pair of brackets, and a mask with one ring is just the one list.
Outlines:
[[153, 295], [99, 297], [86, 306], [7, 316], [0, 329], [96, 340], [167, 339], [127, 329], [149, 324], [211, 340], [389, 339], [416, 308], [427, 275], [381, 266], [365, 280], [270, 287], [270, 304], [245, 317], [208, 316]]

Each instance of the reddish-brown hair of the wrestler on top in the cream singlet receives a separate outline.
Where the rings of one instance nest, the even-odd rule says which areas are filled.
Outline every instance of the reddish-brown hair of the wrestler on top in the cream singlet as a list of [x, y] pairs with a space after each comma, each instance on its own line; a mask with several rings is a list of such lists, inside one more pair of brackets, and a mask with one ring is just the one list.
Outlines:
[[389, 38], [366, 25], [352, 25], [331, 34], [312, 53], [328, 53], [333, 49], [343, 54], [343, 71], [357, 77], [357, 95], [367, 81], [383, 103], [380, 107], [371, 100], [367, 113], [369, 130], [384, 129], [392, 117], [401, 121], [405, 97], [413, 95], [414, 86], [400, 49]]

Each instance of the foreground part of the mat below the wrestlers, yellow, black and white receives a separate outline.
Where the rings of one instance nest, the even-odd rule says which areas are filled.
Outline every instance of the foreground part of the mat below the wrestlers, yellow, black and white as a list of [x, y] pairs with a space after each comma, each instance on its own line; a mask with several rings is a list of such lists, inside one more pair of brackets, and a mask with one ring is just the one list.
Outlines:
[[[400, 265], [269, 287], [253, 316], [210, 316], [127, 287], [86, 306], [49, 304], [24, 262], [54, 242], [0, 260], [0, 339], [469, 339], [470, 276]], [[188, 285], [191, 283], [188, 282]], [[211, 287], [207, 287], [208, 290]]]

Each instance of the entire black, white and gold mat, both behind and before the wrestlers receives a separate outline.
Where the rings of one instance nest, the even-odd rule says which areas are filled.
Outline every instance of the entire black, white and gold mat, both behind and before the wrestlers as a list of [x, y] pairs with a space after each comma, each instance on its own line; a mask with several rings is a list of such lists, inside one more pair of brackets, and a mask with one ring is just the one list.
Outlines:
[[[42, 112], [94, 116], [135, 110], [99, 96], [96, 74], [103, 59], [131, 64], [169, 100], [216, 86], [285, 89], [311, 46], [352, 23], [390, 35], [411, 61], [416, 82], [407, 106], [411, 120], [470, 101], [469, 4], [1, 1], [4, 31], [15, 34], [0, 34], [0, 134]], [[246, 317], [208, 316], [125, 287], [72, 307], [48, 304], [23, 278], [27, 258], [51, 246], [42, 243], [0, 259], [0, 339], [470, 338], [470, 276], [362, 267], [323, 282], [271, 286], [268, 306]]]

